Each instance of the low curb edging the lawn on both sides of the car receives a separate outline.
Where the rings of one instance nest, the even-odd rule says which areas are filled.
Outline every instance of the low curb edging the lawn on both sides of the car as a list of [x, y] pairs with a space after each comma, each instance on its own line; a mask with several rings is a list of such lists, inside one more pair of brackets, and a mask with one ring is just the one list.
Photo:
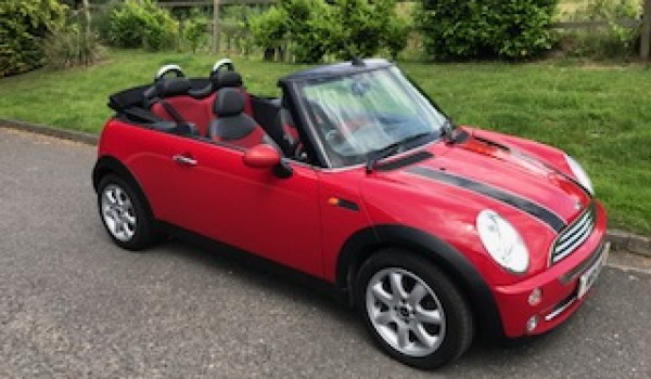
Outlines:
[[[5, 126], [9, 128], [39, 134], [51, 135], [59, 139], [81, 142], [89, 145], [97, 145], [99, 140], [99, 136], [97, 134], [84, 133], [78, 131], [49, 127], [44, 125], [16, 121], [4, 118], [0, 118], [0, 126]], [[607, 232], [605, 238], [611, 241], [613, 251], [628, 251], [640, 256], [651, 257], [650, 237], [640, 236], [618, 230], [610, 230]]]

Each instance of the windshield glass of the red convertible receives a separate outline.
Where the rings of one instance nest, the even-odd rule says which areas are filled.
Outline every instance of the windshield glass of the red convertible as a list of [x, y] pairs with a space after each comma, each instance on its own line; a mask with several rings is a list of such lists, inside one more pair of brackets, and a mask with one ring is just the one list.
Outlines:
[[446, 121], [396, 67], [309, 80], [299, 90], [333, 168], [427, 143]]

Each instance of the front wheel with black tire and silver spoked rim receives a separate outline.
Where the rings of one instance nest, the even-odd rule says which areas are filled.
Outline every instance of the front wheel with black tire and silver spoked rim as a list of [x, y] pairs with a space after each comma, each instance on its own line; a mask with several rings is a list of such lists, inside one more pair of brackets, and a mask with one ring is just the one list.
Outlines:
[[371, 256], [355, 284], [357, 310], [373, 340], [393, 358], [420, 369], [461, 356], [474, 335], [468, 301], [430, 261], [400, 249]]

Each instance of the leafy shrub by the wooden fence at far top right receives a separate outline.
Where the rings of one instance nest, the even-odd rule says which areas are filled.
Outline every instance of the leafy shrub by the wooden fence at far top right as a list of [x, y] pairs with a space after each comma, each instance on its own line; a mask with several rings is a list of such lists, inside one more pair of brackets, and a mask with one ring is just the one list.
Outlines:
[[593, 60], [629, 57], [635, 54], [640, 27], [625, 27], [622, 19], [638, 19], [641, 6], [638, 0], [587, 0], [571, 14], [575, 21], [603, 21], [608, 27], [565, 32], [561, 49], [569, 56]]

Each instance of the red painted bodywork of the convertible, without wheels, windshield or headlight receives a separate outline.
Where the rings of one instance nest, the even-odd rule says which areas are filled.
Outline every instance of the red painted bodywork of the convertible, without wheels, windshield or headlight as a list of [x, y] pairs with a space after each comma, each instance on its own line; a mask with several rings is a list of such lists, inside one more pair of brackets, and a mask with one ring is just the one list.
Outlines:
[[[244, 165], [244, 148], [116, 116], [102, 132], [93, 181], [128, 175], [158, 222], [318, 277], [350, 302], [366, 258], [381, 247], [409, 249], [449, 273], [485, 334], [546, 332], [585, 300], [580, 276], [608, 252], [605, 211], [561, 151], [470, 127], [457, 134], [460, 141], [423, 144], [370, 171], [283, 159], [291, 175], [281, 178]], [[520, 232], [531, 253], [525, 273], [514, 275], [486, 251], [475, 224], [486, 208]], [[552, 262], [557, 238], [588, 217], [585, 240]], [[537, 325], [527, 329], [534, 316]]]

